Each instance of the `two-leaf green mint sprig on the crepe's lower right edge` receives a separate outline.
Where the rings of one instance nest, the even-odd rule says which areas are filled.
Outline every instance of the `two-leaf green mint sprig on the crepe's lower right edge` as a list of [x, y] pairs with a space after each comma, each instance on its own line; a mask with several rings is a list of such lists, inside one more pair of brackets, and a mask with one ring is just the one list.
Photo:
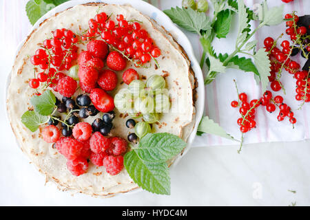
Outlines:
[[178, 155], [186, 143], [169, 133], [147, 134], [137, 148], [124, 157], [130, 177], [144, 190], [160, 195], [170, 194], [170, 177], [167, 160]]

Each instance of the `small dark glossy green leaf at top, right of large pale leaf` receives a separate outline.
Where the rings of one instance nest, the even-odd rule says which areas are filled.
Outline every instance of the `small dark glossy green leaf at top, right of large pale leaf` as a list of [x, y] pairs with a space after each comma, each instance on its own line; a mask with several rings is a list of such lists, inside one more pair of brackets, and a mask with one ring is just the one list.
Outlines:
[[231, 25], [231, 10], [223, 10], [218, 13], [214, 23], [214, 32], [218, 39], [226, 38]]

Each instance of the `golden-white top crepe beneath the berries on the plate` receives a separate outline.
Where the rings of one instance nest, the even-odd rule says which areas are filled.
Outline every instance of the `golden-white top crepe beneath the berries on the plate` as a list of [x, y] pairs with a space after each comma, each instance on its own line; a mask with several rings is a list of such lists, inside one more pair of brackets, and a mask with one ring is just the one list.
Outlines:
[[[195, 121], [193, 101], [195, 78], [190, 62], [182, 48], [164, 28], [129, 5], [106, 5], [104, 3], [76, 5], [74, 8], [69, 8], [43, 21], [39, 28], [28, 36], [17, 55], [8, 88], [7, 108], [12, 129], [21, 149], [41, 173], [46, 175], [47, 181], [56, 182], [61, 190], [107, 197], [138, 188], [125, 169], [120, 174], [111, 176], [105, 172], [104, 167], [97, 168], [90, 164], [86, 174], [75, 177], [66, 168], [65, 157], [52, 148], [51, 144], [42, 140], [40, 131], [32, 133], [21, 123], [21, 115], [32, 108], [30, 98], [34, 95], [34, 90], [28, 86], [28, 80], [33, 77], [33, 66], [29, 57], [45, 39], [52, 36], [52, 30], [67, 28], [81, 34], [88, 28], [89, 19], [92, 19], [98, 12], [112, 15], [111, 19], [114, 21], [116, 21], [117, 14], [123, 14], [127, 20], [141, 21], [141, 26], [149, 32], [150, 37], [161, 49], [162, 56], [158, 58], [159, 67], [155, 68], [155, 63], [152, 61], [151, 68], [136, 68], [132, 63], [127, 63], [127, 68], [136, 69], [141, 76], [146, 76], [146, 78], [154, 74], [165, 76], [167, 89], [172, 95], [172, 109], [177, 110], [163, 114], [161, 124], [154, 124], [154, 132], [173, 133], [187, 140]], [[82, 50], [85, 50], [85, 45], [81, 44], [79, 53]], [[120, 79], [122, 73], [117, 74]], [[127, 85], [118, 82], [118, 87], [112, 92], [112, 96], [125, 87]], [[59, 96], [59, 94], [54, 94]], [[76, 93], [75, 96], [77, 95], [79, 94]], [[116, 115], [112, 134], [126, 138], [128, 130], [125, 129], [125, 121], [128, 118], [118, 111]], [[94, 119], [90, 117], [85, 121], [91, 123]]]

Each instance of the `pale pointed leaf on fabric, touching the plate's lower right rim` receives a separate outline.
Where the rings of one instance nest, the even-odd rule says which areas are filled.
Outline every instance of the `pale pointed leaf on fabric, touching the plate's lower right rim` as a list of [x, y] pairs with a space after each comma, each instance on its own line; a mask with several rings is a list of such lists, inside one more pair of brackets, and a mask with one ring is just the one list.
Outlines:
[[229, 140], [238, 141], [234, 139], [234, 137], [226, 133], [226, 131], [219, 124], [214, 122], [214, 120], [209, 119], [208, 116], [203, 117], [203, 119], [201, 120], [198, 126], [198, 131], [203, 132], [203, 133], [209, 133], [211, 135], [225, 137]]

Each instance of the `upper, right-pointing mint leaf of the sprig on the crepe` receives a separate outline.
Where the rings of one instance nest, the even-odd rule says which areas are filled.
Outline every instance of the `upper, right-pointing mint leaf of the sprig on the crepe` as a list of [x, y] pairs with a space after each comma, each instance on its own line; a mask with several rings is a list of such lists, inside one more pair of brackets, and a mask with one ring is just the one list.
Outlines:
[[147, 134], [140, 140], [139, 147], [134, 149], [138, 157], [147, 162], [166, 162], [178, 155], [186, 143], [169, 133]]

